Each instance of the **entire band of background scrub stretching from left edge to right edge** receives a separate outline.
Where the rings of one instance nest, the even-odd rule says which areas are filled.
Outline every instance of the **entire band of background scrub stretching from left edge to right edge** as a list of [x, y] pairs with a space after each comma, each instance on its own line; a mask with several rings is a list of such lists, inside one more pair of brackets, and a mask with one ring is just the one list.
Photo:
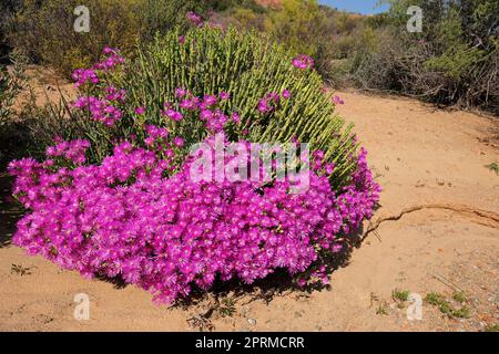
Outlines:
[[[133, 53], [135, 42], [186, 29], [194, 10], [214, 24], [256, 29], [294, 54], [314, 56], [335, 87], [400, 92], [438, 104], [499, 114], [499, 2], [387, 0], [387, 13], [363, 17], [316, 0], [89, 0], [91, 32], [72, 29], [77, 0], [6, 0], [0, 4], [0, 52], [19, 48], [64, 75], [94, 62], [104, 45]], [[422, 33], [409, 33], [407, 8], [424, 10]], [[212, 12], [215, 11], [215, 12]], [[12, 19], [12, 13], [16, 15]], [[9, 44], [9, 45], [8, 45]], [[1, 56], [1, 54], [0, 54]]]

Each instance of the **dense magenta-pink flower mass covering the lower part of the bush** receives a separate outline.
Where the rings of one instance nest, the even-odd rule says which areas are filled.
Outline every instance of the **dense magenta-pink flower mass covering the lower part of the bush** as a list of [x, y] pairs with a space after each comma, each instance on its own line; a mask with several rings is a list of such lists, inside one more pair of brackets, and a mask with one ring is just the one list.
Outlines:
[[[165, 136], [150, 133], [156, 142]], [[193, 285], [210, 289], [217, 277], [253, 283], [276, 269], [301, 285], [326, 283], [320, 267], [303, 273], [344, 247], [338, 236], [370, 217], [379, 191], [364, 150], [349, 186], [332, 190], [318, 160], [309, 189], [292, 195], [288, 180], [194, 183], [189, 159], [165, 178], [172, 160], [160, 158], [155, 144], [121, 143], [101, 165], [85, 166], [85, 146], [61, 142], [48, 152], [71, 167], [51, 158], [11, 163], [14, 194], [31, 210], [13, 242], [85, 277], [121, 277], [167, 303]]]

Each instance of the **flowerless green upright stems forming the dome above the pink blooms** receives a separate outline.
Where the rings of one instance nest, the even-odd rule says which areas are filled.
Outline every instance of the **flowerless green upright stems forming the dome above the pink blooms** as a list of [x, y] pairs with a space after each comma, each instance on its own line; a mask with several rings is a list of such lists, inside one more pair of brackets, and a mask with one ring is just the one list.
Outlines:
[[[356, 149], [352, 126], [334, 114], [335, 106], [322, 92], [323, 81], [316, 72], [297, 70], [284, 46], [255, 32], [192, 29], [185, 33], [185, 44], [179, 42], [179, 30], [171, 31], [142, 45], [130, 69], [113, 79], [116, 87], [128, 90], [129, 114], [139, 106], [151, 107], [143, 124], [166, 125], [172, 134], [198, 142], [201, 123], [182, 119], [173, 124], [160, 114], [163, 104], [174, 101], [177, 87], [194, 95], [226, 91], [232, 98], [225, 113], [236, 111], [242, 121], [241, 127], [228, 129], [231, 139], [286, 143], [296, 137], [325, 150], [326, 158], [335, 162], [332, 180], [342, 184], [348, 178], [355, 164], [348, 155]], [[278, 110], [265, 116], [255, 113], [259, 98], [286, 88], [292, 98]]]

